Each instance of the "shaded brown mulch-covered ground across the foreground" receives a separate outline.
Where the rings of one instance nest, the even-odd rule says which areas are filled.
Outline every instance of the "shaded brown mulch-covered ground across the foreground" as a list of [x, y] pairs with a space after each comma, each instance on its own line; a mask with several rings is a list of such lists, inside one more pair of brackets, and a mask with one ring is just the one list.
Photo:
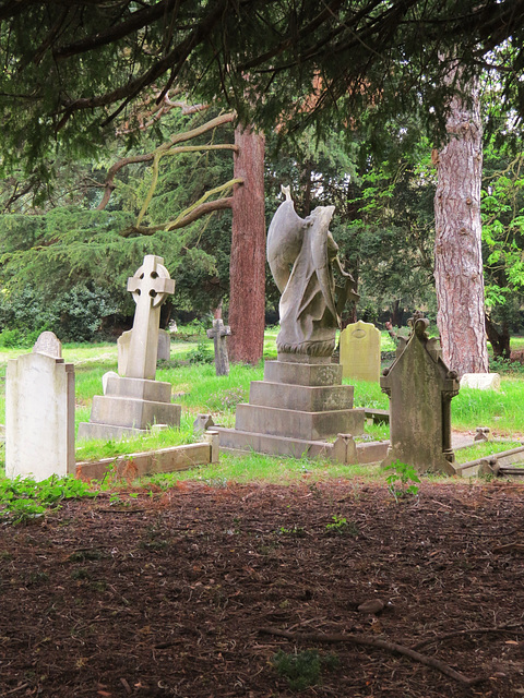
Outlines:
[[[0, 696], [523, 696], [523, 504], [498, 483], [398, 504], [356, 481], [180, 483], [2, 525]], [[294, 693], [300, 659], [321, 670]]]

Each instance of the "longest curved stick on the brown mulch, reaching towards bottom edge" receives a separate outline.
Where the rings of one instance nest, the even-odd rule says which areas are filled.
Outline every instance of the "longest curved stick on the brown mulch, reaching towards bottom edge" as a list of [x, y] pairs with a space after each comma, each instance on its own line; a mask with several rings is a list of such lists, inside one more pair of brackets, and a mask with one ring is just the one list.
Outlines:
[[260, 628], [259, 633], [264, 633], [266, 635], [277, 635], [279, 637], [285, 637], [288, 640], [310, 640], [313, 642], [350, 642], [352, 645], [362, 645], [365, 647], [379, 647], [383, 650], [388, 650], [389, 652], [395, 652], [396, 654], [403, 654], [404, 657], [409, 657], [416, 662], [420, 664], [425, 664], [426, 666], [431, 666], [432, 669], [437, 669], [442, 674], [445, 674], [450, 678], [454, 678], [458, 683], [464, 686], [474, 686], [475, 684], [484, 681], [484, 677], [477, 676], [474, 678], [469, 678], [460, 672], [455, 672], [449, 664], [445, 662], [441, 662], [438, 659], [432, 657], [426, 657], [426, 654], [420, 654], [420, 652], [416, 652], [409, 647], [405, 647], [404, 645], [397, 645], [396, 642], [390, 642], [389, 640], [381, 640], [376, 637], [369, 637], [367, 635], [349, 635], [343, 633], [336, 633], [334, 635], [323, 635], [319, 633], [288, 633], [287, 630], [278, 630], [276, 628]]

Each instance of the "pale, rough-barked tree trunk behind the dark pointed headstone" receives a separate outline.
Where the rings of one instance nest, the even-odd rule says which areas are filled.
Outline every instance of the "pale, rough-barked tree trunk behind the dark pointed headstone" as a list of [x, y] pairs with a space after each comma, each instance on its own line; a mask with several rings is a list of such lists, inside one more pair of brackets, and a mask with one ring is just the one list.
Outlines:
[[483, 130], [476, 85], [468, 89], [469, 104], [458, 96], [451, 101], [448, 144], [434, 158], [437, 324], [444, 362], [460, 375], [488, 371], [480, 246]]

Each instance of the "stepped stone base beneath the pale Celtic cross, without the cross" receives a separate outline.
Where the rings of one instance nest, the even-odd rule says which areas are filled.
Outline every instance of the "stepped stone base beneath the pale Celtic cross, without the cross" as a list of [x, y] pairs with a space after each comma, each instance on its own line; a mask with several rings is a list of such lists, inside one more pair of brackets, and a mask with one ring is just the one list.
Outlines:
[[170, 383], [111, 376], [106, 395], [93, 398], [90, 422], [79, 424], [79, 438], [120, 438], [147, 433], [155, 424], [179, 426], [181, 407], [170, 399]]

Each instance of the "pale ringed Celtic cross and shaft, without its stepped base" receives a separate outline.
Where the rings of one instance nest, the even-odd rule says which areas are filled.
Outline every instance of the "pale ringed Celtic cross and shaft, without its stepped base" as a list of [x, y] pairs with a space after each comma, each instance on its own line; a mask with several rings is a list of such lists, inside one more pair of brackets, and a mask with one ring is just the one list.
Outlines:
[[128, 291], [136, 303], [126, 377], [155, 380], [160, 305], [175, 292], [175, 280], [163, 266], [164, 258], [146, 254], [144, 263], [128, 279]]

